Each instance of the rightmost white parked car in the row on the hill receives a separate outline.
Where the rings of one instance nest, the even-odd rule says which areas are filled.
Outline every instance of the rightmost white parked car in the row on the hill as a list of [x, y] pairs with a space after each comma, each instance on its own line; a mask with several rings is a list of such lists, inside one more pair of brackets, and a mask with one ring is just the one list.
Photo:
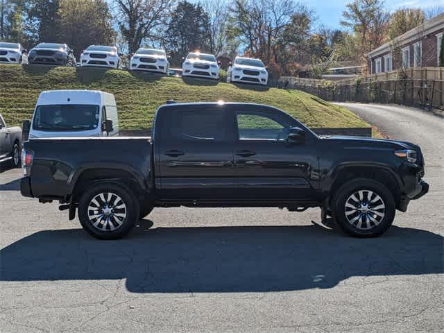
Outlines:
[[236, 57], [227, 71], [227, 82], [259, 83], [267, 85], [268, 71], [264, 62], [255, 58]]

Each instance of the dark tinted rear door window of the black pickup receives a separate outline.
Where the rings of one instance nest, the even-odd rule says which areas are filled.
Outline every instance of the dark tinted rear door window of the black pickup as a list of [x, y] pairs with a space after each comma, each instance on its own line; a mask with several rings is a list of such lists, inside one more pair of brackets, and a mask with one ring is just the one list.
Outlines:
[[225, 115], [222, 110], [173, 110], [170, 117], [170, 119], [164, 119], [162, 128], [169, 128], [169, 137], [173, 139], [180, 141], [223, 141], [226, 139]]

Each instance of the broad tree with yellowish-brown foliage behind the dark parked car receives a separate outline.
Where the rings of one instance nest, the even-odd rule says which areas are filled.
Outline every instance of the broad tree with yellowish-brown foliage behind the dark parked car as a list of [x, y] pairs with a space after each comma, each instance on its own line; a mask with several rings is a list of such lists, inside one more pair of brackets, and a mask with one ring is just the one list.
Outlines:
[[105, 0], [60, 0], [56, 17], [57, 40], [71, 46], [77, 54], [92, 44], [112, 45], [116, 33], [111, 22], [112, 15]]

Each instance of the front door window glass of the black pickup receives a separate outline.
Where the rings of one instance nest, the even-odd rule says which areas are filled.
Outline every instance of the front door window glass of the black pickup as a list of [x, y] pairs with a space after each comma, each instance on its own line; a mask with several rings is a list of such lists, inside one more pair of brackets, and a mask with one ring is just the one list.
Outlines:
[[290, 125], [282, 119], [266, 114], [237, 113], [237, 129], [240, 140], [284, 141]]

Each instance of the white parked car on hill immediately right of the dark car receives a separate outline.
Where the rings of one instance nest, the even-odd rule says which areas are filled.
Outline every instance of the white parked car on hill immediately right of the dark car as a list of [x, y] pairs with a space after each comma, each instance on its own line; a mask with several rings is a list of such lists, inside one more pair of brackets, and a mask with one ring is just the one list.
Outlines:
[[80, 54], [80, 66], [120, 67], [120, 55], [116, 46], [91, 45]]

